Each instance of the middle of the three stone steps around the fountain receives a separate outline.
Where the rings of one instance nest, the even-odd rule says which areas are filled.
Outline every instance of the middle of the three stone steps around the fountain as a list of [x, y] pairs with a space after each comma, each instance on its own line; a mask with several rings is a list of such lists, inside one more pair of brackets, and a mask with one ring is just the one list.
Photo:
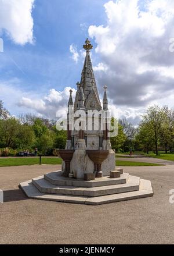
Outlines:
[[[97, 180], [97, 179], [96, 179]], [[111, 180], [111, 179], [110, 179]], [[56, 186], [44, 179], [44, 176], [32, 179], [32, 184], [37, 187], [41, 193], [75, 195], [84, 197], [99, 197], [102, 195], [111, 195], [126, 193], [139, 190], [140, 178], [129, 176], [125, 184], [114, 184], [101, 187], [77, 187], [77, 186]]]

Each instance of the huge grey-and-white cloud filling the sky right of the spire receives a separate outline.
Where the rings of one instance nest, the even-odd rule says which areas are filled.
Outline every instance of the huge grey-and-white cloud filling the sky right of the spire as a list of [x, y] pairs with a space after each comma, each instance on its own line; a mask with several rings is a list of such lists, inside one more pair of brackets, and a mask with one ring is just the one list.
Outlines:
[[174, 54], [169, 51], [169, 39], [174, 35], [174, 1], [139, 3], [109, 1], [104, 5], [107, 25], [89, 27], [100, 58], [95, 67], [98, 84], [107, 84], [113, 104], [133, 115], [133, 109], [139, 115], [148, 105], [162, 105], [164, 98], [174, 97]]

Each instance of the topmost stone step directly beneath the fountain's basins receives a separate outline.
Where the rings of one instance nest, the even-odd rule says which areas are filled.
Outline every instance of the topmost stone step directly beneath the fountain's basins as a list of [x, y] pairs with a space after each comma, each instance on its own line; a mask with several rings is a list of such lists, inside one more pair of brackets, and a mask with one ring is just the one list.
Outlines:
[[128, 182], [129, 174], [123, 173], [120, 178], [110, 179], [110, 177], [97, 178], [95, 180], [90, 180], [89, 182], [85, 180], [76, 180], [68, 177], [61, 176], [61, 171], [52, 172], [44, 175], [44, 179], [56, 186], [73, 186], [73, 187], [102, 187], [111, 186], [117, 184], [125, 184]]

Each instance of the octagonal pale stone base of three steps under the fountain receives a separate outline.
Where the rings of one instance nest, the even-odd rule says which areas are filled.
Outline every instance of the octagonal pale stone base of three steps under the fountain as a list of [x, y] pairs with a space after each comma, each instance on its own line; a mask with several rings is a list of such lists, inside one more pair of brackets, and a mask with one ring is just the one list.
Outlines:
[[29, 198], [89, 205], [153, 196], [149, 180], [128, 173], [114, 179], [102, 177], [85, 181], [63, 177], [58, 171], [20, 183], [20, 187]]

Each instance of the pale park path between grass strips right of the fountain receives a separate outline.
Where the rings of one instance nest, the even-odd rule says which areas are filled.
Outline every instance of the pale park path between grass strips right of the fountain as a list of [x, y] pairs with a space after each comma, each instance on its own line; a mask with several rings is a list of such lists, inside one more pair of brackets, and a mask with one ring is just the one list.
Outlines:
[[116, 156], [116, 159], [118, 161], [128, 161], [128, 162], [143, 162], [143, 163], [158, 163], [162, 165], [174, 165], [174, 161], [168, 161], [164, 159], [158, 159], [158, 158], [151, 158], [151, 157], [129, 157], [129, 158], [119, 158]]

